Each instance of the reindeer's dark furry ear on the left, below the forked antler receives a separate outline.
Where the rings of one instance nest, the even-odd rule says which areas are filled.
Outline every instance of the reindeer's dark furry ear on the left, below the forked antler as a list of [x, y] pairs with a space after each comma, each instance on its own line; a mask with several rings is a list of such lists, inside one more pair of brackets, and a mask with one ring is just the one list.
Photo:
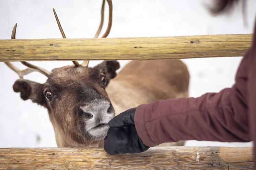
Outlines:
[[43, 87], [43, 84], [25, 79], [16, 80], [12, 86], [15, 92], [21, 93], [21, 99], [31, 99], [33, 102], [45, 106]]

